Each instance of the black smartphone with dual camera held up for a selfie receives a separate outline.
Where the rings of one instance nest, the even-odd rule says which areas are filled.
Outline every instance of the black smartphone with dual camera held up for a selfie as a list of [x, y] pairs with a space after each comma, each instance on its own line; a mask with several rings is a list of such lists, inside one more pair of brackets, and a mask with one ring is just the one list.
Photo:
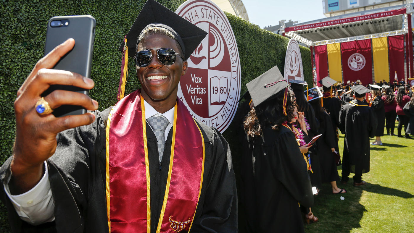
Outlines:
[[[90, 78], [95, 27], [96, 21], [91, 15], [55, 16], [49, 19], [46, 32], [45, 55], [68, 38], [75, 39], [73, 49], [63, 56], [53, 69], [67, 70]], [[41, 96], [47, 96], [56, 89], [89, 94], [89, 90], [76, 86], [52, 85]], [[63, 105], [55, 108], [52, 112], [55, 117], [83, 113], [86, 113], [86, 109], [75, 105]]]

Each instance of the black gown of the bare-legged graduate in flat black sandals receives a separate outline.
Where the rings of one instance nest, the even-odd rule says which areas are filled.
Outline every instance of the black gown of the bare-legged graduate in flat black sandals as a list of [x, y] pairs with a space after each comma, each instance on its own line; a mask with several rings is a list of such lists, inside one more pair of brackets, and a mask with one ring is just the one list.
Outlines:
[[323, 112], [318, 119], [320, 123], [319, 133], [322, 135], [316, 141], [320, 162], [320, 176], [323, 183], [339, 179], [335, 157], [331, 148], [336, 146], [336, 132], [332, 129], [330, 116]]

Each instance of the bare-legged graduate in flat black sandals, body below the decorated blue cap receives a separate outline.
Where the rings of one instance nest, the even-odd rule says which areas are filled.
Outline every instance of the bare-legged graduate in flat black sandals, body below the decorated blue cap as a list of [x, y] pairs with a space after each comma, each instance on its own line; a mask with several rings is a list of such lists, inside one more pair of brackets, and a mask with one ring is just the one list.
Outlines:
[[320, 98], [314, 98], [309, 101], [315, 110], [315, 116], [319, 121], [319, 133], [322, 135], [316, 141], [316, 148], [319, 154], [320, 175], [323, 183], [330, 183], [332, 193], [346, 193], [346, 190], [338, 188], [336, 181], [339, 180], [337, 163], [332, 154], [335, 151], [336, 132], [332, 128], [331, 118], [324, 108], [321, 106]]

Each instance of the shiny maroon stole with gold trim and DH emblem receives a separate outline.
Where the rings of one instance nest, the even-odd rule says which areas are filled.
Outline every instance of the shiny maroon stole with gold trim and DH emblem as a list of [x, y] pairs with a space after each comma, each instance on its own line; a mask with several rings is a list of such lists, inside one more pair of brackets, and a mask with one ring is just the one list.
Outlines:
[[[110, 232], [189, 231], [204, 172], [204, 138], [177, 98], [164, 202], [159, 219], [151, 219], [148, 147], [144, 101], [140, 90], [111, 110], [106, 127], [106, 204]], [[166, 145], [166, 147], [168, 147]]]

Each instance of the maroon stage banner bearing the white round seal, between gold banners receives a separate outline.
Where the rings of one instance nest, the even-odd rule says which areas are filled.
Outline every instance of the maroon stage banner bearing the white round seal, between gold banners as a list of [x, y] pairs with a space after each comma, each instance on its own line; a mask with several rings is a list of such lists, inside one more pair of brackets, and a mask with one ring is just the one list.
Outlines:
[[372, 83], [371, 39], [341, 43], [344, 82], [361, 80], [366, 86]]

